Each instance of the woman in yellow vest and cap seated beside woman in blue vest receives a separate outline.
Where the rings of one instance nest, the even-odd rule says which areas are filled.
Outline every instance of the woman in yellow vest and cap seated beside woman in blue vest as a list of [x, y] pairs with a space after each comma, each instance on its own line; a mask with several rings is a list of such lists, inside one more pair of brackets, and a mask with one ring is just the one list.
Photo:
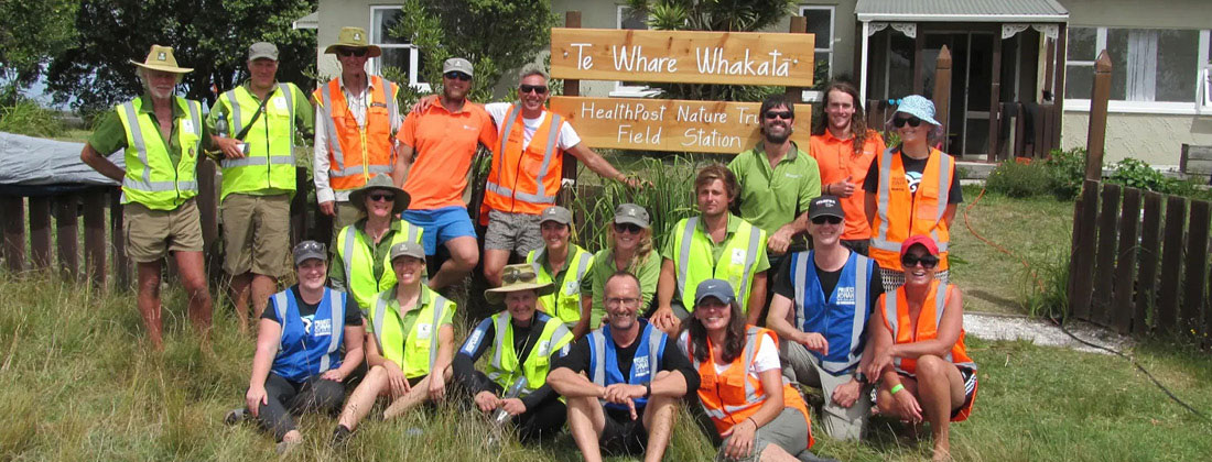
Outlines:
[[[428, 400], [441, 400], [454, 354], [454, 302], [421, 283], [425, 249], [412, 241], [391, 247], [395, 287], [376, 298], [366, 316], [371, 369], [354, 389], [333, 431], [343, 441], [370, 414], [379, 395], [391, 398], [383, 418], [395, 417]], [[435, 345], [436, 339], [436, 345]]]

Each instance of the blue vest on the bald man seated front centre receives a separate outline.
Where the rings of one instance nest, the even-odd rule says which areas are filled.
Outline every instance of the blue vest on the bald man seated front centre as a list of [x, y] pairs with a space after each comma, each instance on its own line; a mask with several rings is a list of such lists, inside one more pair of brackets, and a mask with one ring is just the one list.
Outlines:
[[[623, 374], [618, 371], [618, 357], [616, 356], [614, 337], [610, 335], [610, 325], [589, 333], [589, 380], [599, 386], [614, 383], [645, 385], [657, 375], [661, 359], [665, 356], [665, 333], [648, 324], [646, 320], [636, 319], [642, 327], [640, 336], [635, 341], [640, 342], [635, 347], [635, 357], [631, 359], [631, 379], [623, 380]], [[605, 403], [608, 409], [628, 410], [625, 405]], [[646, 398], [636, 398], [635, 408], [648, 404]]]

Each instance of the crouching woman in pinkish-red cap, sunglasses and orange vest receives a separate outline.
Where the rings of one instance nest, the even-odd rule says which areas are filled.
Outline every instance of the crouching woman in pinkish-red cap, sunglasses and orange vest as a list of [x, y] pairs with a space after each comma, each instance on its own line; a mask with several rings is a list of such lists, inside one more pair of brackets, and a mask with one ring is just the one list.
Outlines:
[[905, 283], [880, 295], [869, 324], [871, 360], [864, 371], [880, 377], [880, 414], [916, 428], [930, 422], [934, 460], [950, 460], [950, 422], [968, 418], [977, 397], [977, 364], [964, 347], [960, 289], [934, 279], [938, 246], [913, 236], [901, 246]]

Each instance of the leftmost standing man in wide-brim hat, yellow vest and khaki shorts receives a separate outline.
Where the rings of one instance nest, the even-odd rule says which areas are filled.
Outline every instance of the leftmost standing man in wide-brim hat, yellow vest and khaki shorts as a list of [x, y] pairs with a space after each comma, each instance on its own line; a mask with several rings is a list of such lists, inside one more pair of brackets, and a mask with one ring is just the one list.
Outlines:
[[[160, 265], [172, 253], [189, 295], [189, 318], [205, 340], [211, 295], [202, 265], [198, 154], [205, 128], [200, 103], [173, 94], [182, 75], [172, 48], [153, 45], [137, 67], [143, 94], [114, 108], [97, 126], [80, 160], [121, 183], [126, 254], [138, 264], [138, 307], [148, 337], [161, 347]], [[125, 150], [126, 168], [105, 158]]]

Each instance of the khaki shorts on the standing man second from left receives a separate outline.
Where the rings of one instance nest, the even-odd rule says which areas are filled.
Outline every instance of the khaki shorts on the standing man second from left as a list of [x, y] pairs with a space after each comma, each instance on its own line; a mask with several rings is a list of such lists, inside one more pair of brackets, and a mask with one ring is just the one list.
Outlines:
[[291, 197], [228, 195], [219, 204], [223, 220], [223, 271], [238, 276], [282, 277], [288, 270]]

